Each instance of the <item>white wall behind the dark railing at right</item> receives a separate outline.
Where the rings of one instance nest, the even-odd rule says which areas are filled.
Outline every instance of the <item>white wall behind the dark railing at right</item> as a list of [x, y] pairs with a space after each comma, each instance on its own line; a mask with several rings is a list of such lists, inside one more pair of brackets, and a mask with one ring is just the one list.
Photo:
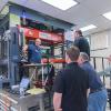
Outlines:
[[[111, 54], [111, 30], [93, 33], [90, 36], [91, 57], [108, 58]], [[93, 61], [91, 59], [91, 63]], [[97, 71], [102, 70], [102, 60], [97, 59]], [[104, 59], [104, 68], [109, 67], [109, 61]]]

